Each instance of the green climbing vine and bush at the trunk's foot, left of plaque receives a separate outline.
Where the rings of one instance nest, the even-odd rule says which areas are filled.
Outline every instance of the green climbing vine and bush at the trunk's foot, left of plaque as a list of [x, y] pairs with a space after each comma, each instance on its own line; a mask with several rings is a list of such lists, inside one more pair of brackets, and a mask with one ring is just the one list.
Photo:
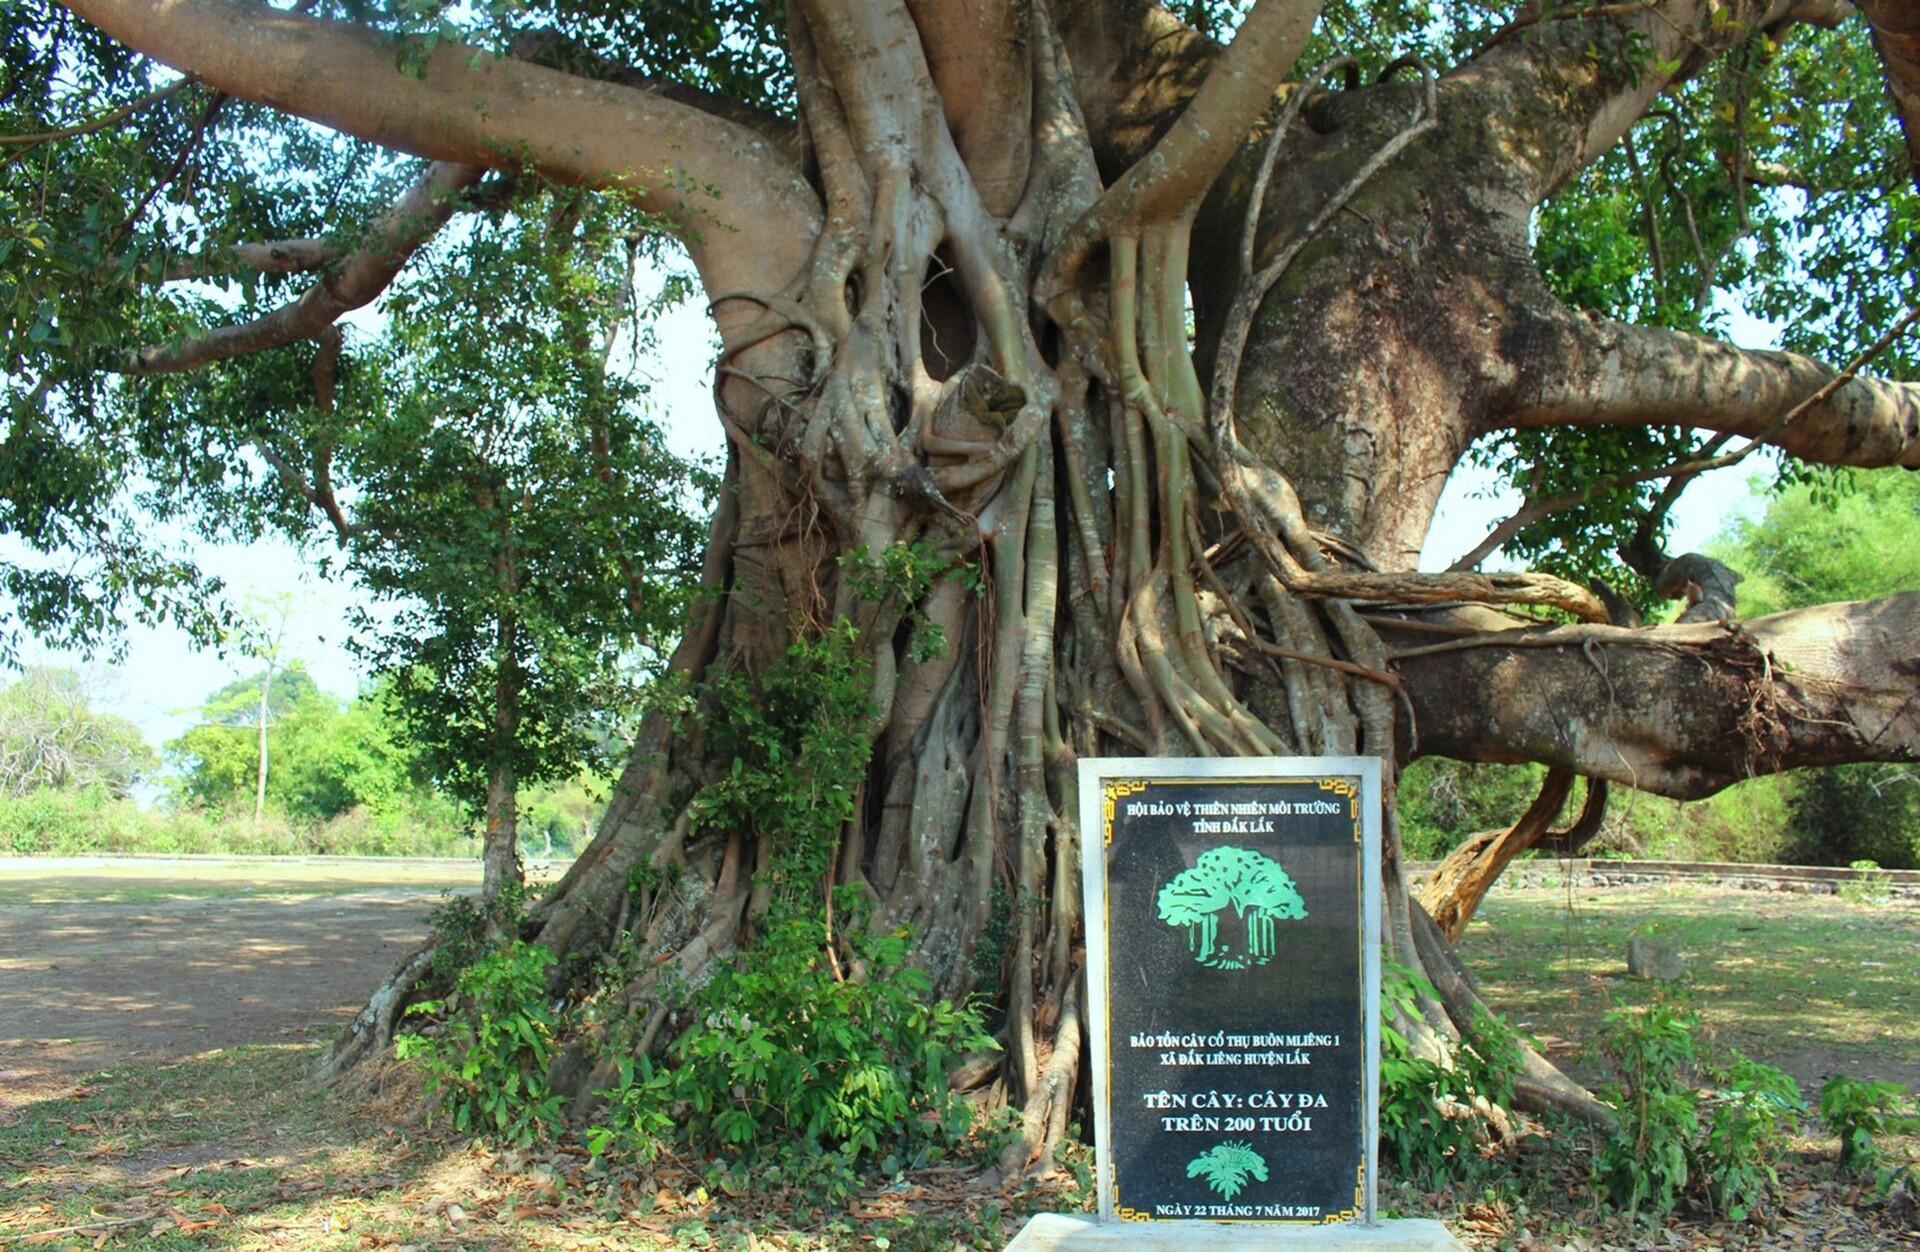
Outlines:
[[868, 758], [868, 674], [854, 643], [841, 624], [797, 641], [764, 674], [728, 672], [703, 693], [705, 732], [732, 764], [693, 812], [770, 849], [770, 901], [755, 945], [682, 991], [687, 1025], [668, 1048], [672, 1066], [620, 1062], [595, 1150], [804, 1144], [899, 1169], [964, 1137], [968, 1110], [947, 1091], [947, 1071], [993, 1047], [979, 1010], [931, 1000], [925, 974], [906, 960], [912, 933], [870, 933], [858, 891], [837, 891], [833, 914], [822, 906]]

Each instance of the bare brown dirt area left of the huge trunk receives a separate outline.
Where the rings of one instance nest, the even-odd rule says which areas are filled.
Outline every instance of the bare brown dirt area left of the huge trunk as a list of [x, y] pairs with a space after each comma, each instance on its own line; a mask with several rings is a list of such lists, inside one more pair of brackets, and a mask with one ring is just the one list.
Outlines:
[[0, 1125], [79, 1075], [326, 1039], [463, 862], [0, 860]]

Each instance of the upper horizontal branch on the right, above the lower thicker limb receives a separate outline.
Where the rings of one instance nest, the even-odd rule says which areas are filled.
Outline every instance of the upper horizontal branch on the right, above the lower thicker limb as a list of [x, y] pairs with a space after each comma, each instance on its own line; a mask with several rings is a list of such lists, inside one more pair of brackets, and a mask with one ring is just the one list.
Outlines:
[[1916, 384], [1851, 378], [1820, 397], [1841, 374], [1811, 357], [1584, 315], [1538, 338], [1513, 409], [1488, 430], [1690, 426], [1761, 438], [1820, 465], [1920, 469]]

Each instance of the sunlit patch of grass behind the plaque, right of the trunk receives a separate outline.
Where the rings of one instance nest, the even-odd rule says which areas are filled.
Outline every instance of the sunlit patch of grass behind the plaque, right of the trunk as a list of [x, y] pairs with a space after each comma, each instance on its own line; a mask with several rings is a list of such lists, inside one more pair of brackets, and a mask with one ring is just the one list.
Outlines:
[[[1496, 891], [1461, 941], [1488, 1002], [1517, 1025], [1597, 1039], [1626, 943], [1688, 956], [1690, 1002], [1722, 1047], [1818, 1091], [1826, 1073], [1920, 1081], [1920, 918], [1832, 895], [1711, 887]], [[1578, 1068], [1578, 1066], [1576, 1066]]]

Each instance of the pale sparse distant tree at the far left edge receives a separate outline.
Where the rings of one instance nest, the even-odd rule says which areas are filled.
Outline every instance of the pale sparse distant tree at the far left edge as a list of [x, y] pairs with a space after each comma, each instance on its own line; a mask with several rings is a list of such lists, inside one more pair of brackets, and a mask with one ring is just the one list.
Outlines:
[[159, 764], [138, 726], [88, 705], [73, 670], [33, 666], [0, 689], [0, 795], [46, 787], [127, 795]]

